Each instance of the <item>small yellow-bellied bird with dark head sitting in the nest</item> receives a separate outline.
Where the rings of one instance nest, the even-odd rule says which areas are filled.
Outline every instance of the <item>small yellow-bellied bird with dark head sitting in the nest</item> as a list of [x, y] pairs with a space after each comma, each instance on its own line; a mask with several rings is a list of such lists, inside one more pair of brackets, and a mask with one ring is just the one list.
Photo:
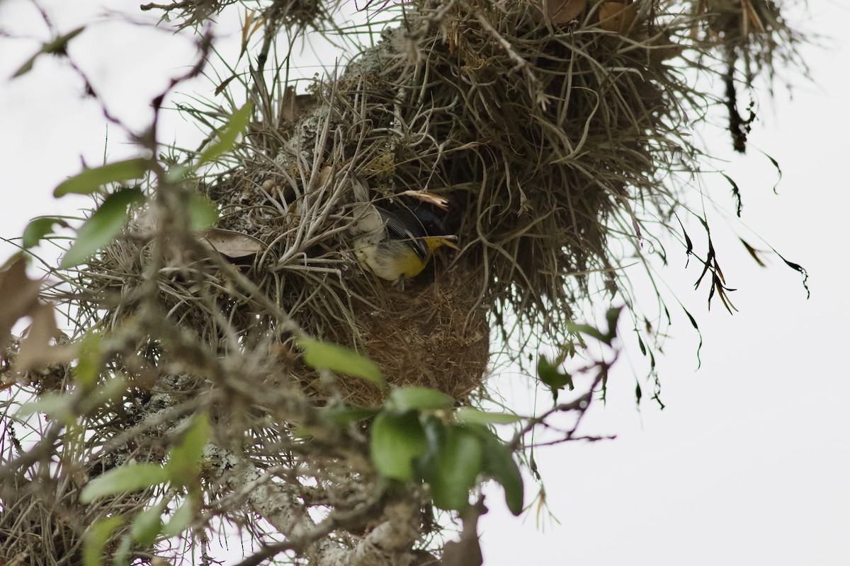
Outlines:
[[356, 222], [355, 230], [365, 233], [354, 242], [357, 261], [402, 291], [405, 281], [428, 266], [435, 249], [459, 249], [439, 217], [421, 207], [389, 210], [367, 205]]

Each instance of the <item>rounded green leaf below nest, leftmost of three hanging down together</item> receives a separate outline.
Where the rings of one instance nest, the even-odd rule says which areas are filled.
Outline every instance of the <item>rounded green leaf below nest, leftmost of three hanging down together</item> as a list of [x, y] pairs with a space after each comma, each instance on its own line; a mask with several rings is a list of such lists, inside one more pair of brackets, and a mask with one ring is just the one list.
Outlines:
[[403, 415], [382, 412], [372, 424], [371, 460], [384, 477], [413, 479], [413, 462], [422, 457], [427, 447], [416, 412]]

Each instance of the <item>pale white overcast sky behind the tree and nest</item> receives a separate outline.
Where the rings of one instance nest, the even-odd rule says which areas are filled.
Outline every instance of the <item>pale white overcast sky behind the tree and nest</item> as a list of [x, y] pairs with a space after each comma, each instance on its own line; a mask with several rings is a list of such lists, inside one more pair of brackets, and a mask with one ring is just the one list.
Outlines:
[[[62, 32], [103, 22], [72, 42], [71, 55], [111, 111], [139, 128], [150, 120], [150, 98], [185, 69], [193, 49], [184, 36], [99, 18], [101, 4], [131, 10], [138, 3], [42, 3]], [[686, 271], [684, 254], [673, 253], [661, 275], [700, 322], [702, 366], [697, 371], [698, 339], [678, 317], [659, 359], [662, 412], [650, 395], [635, 406], [635, 375], [624, 360], [611, 377], [608, 404], [595, 406], [583, 429], [617, 439], [536, 453], [558, 522], [546, 513], [538, 520], [534, 511], [512, 518], [498, 490], [490, 490], [490, 513], [481, 524], [487, 566], [850, 563], [850, 7], [813, 0], [810, 8], [805, 27], [830, 37], [826, 48], [803, 51], [814, 83], [796, 81], [793, 99], [781, 87], [774, 104], [762, 98], [751, 151], [728, 171], [743, 193], [743, 221], [808, 269], [812, 298], [806, 300], [800, 277], [778, 258], [763, 269], [733, 237], [713, 233], [740, 312], [730, 316], [719, 304], [706, 312], [707, 289], [693, 290], [699, 266], [692, 261]], [[102, 162], [105, 136], [108, 160], [135, 149], [116, 126], [105, 126], [65, 64], [41, 58], [28, 75], [6, 80], [48, 38], [32, 3], [0, 0], [0, 30], [15, 36], [0, 37], [0, 235], [11, 238], [32, 216], [87, 205], [55, 201], [51, 193], [80, 170], [81, 155], [90, 165]], [[231, 56], [238, 42], [224, 39]], [[332, 64], [336, 53], [322, 53]], [[212, 97], [210, 85], [200, 80], [192, 87]], [[177, 118], [165, 128], [163, 139], [179, 132], [184, 146], [199, 139]], [[757, 149], [779, 161], [779, 196], [772, 190], [776, 171]], [[727, 187], [716, 194], [733, 208]], [[758, 244], [743, 228], [735, 230]], [[0, 261], [13, 251], [0, 242]], [[629, 356], [639, 367], [639, 352]], [[533, 402], [525, 383], [502, 380], [500, 389], [519, 404]], [[642, 384], [644, 392], [651, 389]], [[536, 488], [528, 488], [533, 496]]]

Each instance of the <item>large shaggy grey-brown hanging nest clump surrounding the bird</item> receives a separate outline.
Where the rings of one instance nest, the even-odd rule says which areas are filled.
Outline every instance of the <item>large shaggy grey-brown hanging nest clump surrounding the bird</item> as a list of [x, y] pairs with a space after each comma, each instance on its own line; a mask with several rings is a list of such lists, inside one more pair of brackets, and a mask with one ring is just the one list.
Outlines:
[[[549, 15], [553, 4], [424, 3], [309, 94], [291, 84], [254, 92], [234, 165], [198, 190], [222, 211], [207, 254], [237, 263], [266, 299], [174, 238], [157, 279], [168, 317], [223, 353], [260, 343], [283, 352], [281, 375], [313, 395], [371, 404], [381, 401], [371, 385], [329, 390], [300, 364], [269, 305], [364, 352], [389, 383], [462, 400], [486, 375], [489, 323], [505, 344], [513, 328], [530, 329], [518, 357], [532, 338], [568, 340], [582, 300], [620, 292], [631, 303], [621, 269], [645, 261], [646, 242], [663, 250], [658, 238], [698, 170], [691, 125], [716, 104], [673, 61], [728, 41], [757, 46], [750, 60], [762, 65], [774, 41], [764, 36], [793, 36], [776, 4], [757, 0], [734, 3], [744, 20], [701, 0], [561, 2], [569, 19]], [[433, 210], [462, 251], [440, 250], [431, 281], [399, 293], [355, 260], [353, 210], [428, 201], [423, 192], [448, 203]], [[127, 297], [150, 242], [131, 231], [93, 261], [89, 289], [114, 299], [108, 326], [133, 316]]]

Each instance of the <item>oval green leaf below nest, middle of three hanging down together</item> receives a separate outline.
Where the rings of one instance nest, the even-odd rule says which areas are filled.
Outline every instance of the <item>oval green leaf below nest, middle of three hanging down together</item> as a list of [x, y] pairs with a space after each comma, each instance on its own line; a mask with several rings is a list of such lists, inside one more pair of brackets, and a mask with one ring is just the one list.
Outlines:
[[453, 424], [445, 426], [437, 439], [425, 480], [431, 485], [434, 505], [447, 511], [461, 510], [468, 506], [469, 490], [482, 471], [482, 441], [467, 427]]

